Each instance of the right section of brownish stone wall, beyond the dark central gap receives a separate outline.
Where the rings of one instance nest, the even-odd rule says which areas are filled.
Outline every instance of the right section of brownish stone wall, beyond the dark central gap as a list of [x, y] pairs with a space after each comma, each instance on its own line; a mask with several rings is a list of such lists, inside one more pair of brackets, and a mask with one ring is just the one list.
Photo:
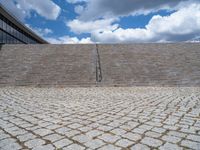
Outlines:
[[100, 45], [102, 84], [200, 86], [200, 44]]

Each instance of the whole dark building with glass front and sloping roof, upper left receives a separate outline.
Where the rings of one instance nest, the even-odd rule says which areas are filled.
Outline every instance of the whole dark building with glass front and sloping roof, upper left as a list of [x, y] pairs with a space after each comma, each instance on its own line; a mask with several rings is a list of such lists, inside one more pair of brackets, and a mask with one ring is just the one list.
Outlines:
[[0, 44], [47, 44], [0, 4]]

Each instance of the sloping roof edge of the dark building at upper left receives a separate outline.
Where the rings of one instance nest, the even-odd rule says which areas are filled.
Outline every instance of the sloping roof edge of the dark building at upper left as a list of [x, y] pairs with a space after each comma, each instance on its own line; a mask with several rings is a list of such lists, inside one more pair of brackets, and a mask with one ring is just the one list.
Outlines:
[[41, 38], [39, 35], [37, 35], [35, 32], [33, 32], [31, 29], [26, 27], [19, 19], [17, 19], [14, 15], [10, 13], [9, 10], [7, 10], [1, 3], [0, 3], [0, 13], [5, 16], [10, 22], [12, 22], [14, 25], [16, 25], [18, 28], [32, 36], [34, 39], [38, 41], [38, 43], [41, 44], [49, 44], [46, 40]]

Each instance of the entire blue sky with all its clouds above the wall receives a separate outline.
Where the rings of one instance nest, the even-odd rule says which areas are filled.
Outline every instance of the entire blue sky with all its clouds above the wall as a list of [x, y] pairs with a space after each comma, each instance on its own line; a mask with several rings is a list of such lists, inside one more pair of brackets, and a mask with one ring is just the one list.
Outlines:
[[52, 44], [200, 41], [200, 0], [0, 0]]

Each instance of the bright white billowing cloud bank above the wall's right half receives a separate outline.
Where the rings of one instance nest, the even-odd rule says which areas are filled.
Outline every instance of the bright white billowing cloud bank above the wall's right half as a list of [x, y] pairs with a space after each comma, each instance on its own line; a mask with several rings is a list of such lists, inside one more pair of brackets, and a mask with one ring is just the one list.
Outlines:
[[154, 16], [145, 28], [118, 28], [92, 33], [92, 40], [110, 42], [177, 42], [200, 36], [200, 4], [182, 8], [170, 16]]

